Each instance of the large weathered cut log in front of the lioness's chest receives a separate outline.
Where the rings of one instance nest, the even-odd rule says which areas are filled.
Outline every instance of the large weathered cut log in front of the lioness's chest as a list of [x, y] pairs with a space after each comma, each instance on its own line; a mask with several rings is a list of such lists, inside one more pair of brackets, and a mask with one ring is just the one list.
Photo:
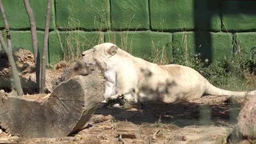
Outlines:
[[33, 100], [0, 93], [0, 126], [23, 138], [63, 137], [83, 128], [103, 100], [99, 75], [75, 76]]

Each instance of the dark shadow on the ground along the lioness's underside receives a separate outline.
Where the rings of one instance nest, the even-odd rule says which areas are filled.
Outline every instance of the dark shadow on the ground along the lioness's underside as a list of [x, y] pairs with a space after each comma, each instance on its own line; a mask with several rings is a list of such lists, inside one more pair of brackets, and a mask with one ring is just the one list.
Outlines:
[[[198, 103], [202, 99], [202, 103]], [[179, 127], [189, 125], [232, 125], [240, 111], [225, 96], [204, 96], [195, 101], [164, 103], [150, 102], [147, 106], [133, 108], [98, 109], [94, 115], [112, 115], [115, 120], [131, 121], [134, 124], [166, 123]], [[219, 100], [216, 100], [219, 99]], [[216, 103], [216, 104], [215, 104]]]

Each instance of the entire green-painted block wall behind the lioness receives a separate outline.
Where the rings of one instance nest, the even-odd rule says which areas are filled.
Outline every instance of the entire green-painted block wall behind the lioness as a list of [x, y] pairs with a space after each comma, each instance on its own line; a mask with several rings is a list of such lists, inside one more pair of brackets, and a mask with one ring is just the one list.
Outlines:
[[[30, 0], [41, 51], [46, 0]], [[152, 49], [187, 49], [217, 61], [237, 47], [246, 56], [256, 47], [256, 1], [253, 0], [52, 0], [48, 62], [63, 59], [67, 47], [82, 51], [112, 42], [134, 56]], [[32, 51], [23, 0], [3, 0], [12, 43]], [[3, 29], [3, 22], [0, 20]]]

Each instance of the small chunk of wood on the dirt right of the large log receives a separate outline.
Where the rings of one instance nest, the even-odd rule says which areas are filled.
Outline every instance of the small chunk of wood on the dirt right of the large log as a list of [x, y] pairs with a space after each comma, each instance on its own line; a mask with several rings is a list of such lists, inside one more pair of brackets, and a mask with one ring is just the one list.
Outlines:
[[121, 138], [141, 138], [141, 129], [139, 127], [118, 127], [117, 134], [122, 135]]

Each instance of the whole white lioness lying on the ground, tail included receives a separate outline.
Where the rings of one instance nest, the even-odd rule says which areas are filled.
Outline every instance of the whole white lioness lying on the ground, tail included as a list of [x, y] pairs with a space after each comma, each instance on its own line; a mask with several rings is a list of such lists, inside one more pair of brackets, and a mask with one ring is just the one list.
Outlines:
[[112, 43], [83, 52], [83, 61], [104, 72], [105, 99], [125, 94], [125, 100], [173, 102], [208, 95], [256, 95], [256, 91], [226, 91], [211, 85], [200, 73], [177, 64], [158, 65], [132, 56]]

